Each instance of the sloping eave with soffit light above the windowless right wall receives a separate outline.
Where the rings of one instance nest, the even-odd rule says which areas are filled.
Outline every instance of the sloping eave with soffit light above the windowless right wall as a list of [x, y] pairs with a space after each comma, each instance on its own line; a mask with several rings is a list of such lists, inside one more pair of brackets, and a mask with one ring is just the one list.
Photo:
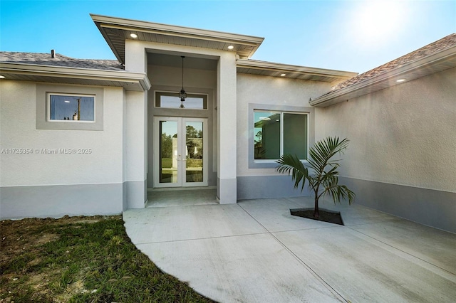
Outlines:
[[[409, 82], [410, 80], [415, 80], [455, 67], [456, 46], [453, 46], [438, 53], [432, 53], [432, 55], [428, 55], [420, 60], [415, 60], [411, 63], [402, 65], [387, 73], [368, 78], [365, 81], [343, 87], [339, 90], [334, 90], [333, 92], [328, 92], [328, 94], [311, 100], [309, 103], [316, 107], [327, 107], [338, 102], [368, 95], [378, 90], [400, 85]], [[405, 79], [405, 82], [397, 82], [397, 80], [400, 79]]]

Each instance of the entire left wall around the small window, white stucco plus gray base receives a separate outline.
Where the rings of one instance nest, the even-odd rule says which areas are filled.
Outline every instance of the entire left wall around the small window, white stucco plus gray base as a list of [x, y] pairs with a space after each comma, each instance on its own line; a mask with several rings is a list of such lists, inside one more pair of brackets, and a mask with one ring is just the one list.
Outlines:
[[[0, 91], [0, 218], [113, 214], [125, 209], [122, 87], [2, 80]], [[36, 107], [46, 107], [46, 91], [95, 91], [103, 100], [103, 129], [39, 129], [36, 120], [45, 119], [46, 111]]]

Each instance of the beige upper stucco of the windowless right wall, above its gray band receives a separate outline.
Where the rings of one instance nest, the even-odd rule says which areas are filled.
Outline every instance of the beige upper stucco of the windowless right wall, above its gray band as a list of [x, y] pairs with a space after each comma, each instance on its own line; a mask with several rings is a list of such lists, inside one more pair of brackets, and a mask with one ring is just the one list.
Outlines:
[[456, 192], [456, 68], [327, 107], [323, 115], [318, 137], [351, 140], [341, 176]]

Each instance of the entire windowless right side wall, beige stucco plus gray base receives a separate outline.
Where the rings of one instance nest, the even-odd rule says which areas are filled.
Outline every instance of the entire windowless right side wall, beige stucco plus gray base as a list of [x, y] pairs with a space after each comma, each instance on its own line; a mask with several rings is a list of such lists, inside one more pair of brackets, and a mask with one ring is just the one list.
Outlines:
[[323, 110], [316, 137], [348, 137], [358, 203], [456, 230], [456, 68]]

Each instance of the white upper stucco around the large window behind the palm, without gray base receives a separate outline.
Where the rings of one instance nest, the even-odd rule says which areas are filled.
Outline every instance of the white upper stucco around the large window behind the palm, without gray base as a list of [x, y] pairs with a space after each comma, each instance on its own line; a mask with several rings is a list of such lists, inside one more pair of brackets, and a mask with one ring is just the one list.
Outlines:
[[[317, 81], [237, 74], [237, 176], [277, 175], [272, 168], [249, 169], [249, 115], [253, 115], [249, 104], [311, 108], [309, 98], [321, 96], [330, 88], [330, 83]], [[315, 111], [314, 115], [318, 116], [319, 112]]]

